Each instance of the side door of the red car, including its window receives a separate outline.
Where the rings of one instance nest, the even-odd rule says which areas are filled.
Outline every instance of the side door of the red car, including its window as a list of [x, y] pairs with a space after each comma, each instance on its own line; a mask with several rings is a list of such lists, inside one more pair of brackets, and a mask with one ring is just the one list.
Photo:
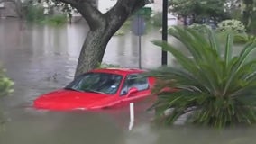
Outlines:
[[[131, 89], [136, 89], [136, 92], [130, 94]], [[139, 101], [151, 94], [149, 77], [141, 74], [132, 74], [125, 77], [120, 96], [123, 97], [123, 102]]]

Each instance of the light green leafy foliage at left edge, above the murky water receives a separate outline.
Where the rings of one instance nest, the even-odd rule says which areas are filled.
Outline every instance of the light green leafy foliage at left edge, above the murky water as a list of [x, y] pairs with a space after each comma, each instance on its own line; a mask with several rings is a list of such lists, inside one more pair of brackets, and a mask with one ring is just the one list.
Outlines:
[[5, 76], [5, 69], [0, 67], [0, 98], [14, 92], [14, 82]]

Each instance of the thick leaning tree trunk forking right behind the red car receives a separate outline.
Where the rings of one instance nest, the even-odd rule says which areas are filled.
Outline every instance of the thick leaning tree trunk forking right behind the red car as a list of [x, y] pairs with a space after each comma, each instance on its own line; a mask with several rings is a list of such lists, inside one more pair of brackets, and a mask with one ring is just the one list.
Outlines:
[[[127, 18], [150, 0], [117, 0], [114, 7], [102, 14], [96, 7], [96, 0], [59, 0], [70, 4], [86, 19], [90, 31], [78, 58], [76, 76], [96, 68], [102, 62], [106, 45]], [[122, 48], [121, 48], [122, 49]]]

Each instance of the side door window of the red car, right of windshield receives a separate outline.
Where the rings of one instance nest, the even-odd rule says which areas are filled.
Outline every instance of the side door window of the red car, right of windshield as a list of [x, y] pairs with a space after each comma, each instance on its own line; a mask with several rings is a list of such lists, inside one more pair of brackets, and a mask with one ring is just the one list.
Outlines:
[[120, 95], [126, 95], [132, 87], [137, 88], [138, 91], [149, 89], [148, 77], [140, 74], [126, 76]]

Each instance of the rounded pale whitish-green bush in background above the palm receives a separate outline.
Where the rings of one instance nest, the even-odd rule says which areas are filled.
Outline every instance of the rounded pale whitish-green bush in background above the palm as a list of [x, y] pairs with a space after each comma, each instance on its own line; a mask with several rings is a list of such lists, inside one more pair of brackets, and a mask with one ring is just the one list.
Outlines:
[[224, 20], [221, 23], [218, 23], [218, 27], [216, 31], [225, 32], [225, 31], [233, 31], [237, 33], [245, 32], [245, 26], [241, 21], [238, 20]]

